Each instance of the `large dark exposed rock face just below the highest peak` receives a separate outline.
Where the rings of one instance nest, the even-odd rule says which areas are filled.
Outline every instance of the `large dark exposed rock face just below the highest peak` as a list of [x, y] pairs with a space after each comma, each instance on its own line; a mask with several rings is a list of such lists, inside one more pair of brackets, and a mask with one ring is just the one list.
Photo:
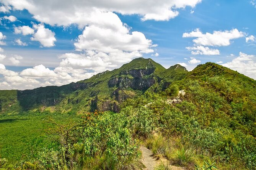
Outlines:
[[154, 68], [132, 69], [123, 72], [119, 77], [112, 77], [108, 85], [109, 87], [116, 86], [119, 89], [147, 90], [156, 82], [151, 75], [154, 70]]

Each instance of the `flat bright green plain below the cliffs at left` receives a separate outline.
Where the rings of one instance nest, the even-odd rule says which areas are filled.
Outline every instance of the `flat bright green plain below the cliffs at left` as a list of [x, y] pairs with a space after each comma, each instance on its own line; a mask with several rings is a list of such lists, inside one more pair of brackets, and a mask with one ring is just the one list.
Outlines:
[[50, 118], [64, 124], [79, 120], [77, 115], [48, 111], [1, 115], [0, 156], [11, 161], [36, 156], [54, 139], [54, 135], [47, 134], [47, 129], [53, 127], [51, 123], [47, 122]]

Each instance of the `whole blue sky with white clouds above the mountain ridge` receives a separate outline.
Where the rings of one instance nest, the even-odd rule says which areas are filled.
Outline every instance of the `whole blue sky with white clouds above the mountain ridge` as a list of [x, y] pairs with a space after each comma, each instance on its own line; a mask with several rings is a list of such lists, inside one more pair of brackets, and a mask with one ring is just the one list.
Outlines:
[[64, 85], [152, 58], [256, 79], [256, 0], [0, 0], [0, 90]]

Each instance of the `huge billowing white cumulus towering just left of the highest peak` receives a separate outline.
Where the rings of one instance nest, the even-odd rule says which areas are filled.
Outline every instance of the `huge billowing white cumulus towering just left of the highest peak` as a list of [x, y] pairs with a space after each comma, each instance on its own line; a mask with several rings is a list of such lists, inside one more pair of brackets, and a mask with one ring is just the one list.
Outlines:
[[130, 32], [129, 27], [122, 23], [116, 14], [102, 15], [109, 18], [109, 23], [103, 25], [95, 22], [86, 26], [74, 43], [76, 51], [81, 53], [63, 55], [62, 58], [65, 59], [60, 66], [104, 71], [141, 57], [143, 53], [154, 52], [152, 47], [156, 45], [152, 40], [147, 39], [141, 32]]

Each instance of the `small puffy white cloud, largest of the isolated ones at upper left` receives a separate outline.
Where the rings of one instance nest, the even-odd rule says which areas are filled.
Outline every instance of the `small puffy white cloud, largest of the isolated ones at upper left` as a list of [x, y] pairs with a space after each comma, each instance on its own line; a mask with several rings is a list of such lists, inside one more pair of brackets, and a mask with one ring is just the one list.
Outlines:
[[43, 47], [53, 47], [56, 41], [55, 33], [44, 27], [44, 24], [34, 24], [36, 33], [31, 37], [32, 41], [39, 41]]

